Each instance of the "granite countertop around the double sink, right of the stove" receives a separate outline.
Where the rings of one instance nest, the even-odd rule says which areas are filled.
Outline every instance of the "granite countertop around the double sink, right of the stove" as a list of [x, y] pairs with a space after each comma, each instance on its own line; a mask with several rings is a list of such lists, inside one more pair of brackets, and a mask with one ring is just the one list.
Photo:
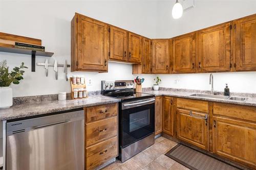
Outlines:
[[198, 92], [176, 92], [176, 91], [165, 91], [165, 90], [148, 90], [143, 92], [149, 93], [149, 94], [155, 94], [156, 96], [167, 95], [167, 96], [174, 96], [178, 98], [196, 99], [196, 100], [202, 100], [202, 101], [211, 101], [211, 102], [220, 102], [220, 103], [229, 103], [229, 104], [256, 107], [256, 98], [249, 98], [249, 97], [245, 97], [246, 98], [245, 102], [239, 102], [239, 101], [232, 101], [227, 99], [214, 99], [214, 98], [205, 98], [202, 96], [191, 96], [191, 94], [195, 94]]

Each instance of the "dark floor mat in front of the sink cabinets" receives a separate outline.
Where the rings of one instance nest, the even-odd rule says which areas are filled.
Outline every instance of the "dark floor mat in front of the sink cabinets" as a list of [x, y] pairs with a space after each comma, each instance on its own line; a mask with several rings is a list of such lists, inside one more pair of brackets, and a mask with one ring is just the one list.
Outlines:
[[186, 147], [179, 143], [165, 154], [169, 158], [193, 170], [238, 170], [240, 168], [227, 164], [214, 157]]

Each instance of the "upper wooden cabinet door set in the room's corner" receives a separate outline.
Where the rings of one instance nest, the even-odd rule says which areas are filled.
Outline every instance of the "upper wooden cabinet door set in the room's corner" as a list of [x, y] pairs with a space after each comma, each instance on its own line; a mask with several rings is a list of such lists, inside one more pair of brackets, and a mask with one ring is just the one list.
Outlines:
[[169, 72], [168, 40], [152, 40], [152, 73]]

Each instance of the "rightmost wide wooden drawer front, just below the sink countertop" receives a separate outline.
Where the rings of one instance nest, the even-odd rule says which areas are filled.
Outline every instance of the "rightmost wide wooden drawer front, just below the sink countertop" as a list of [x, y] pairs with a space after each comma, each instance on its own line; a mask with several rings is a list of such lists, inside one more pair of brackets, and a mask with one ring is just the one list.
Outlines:
[[256, 122], [256, 107], [214, 103], [214, 115], [228, 116]]

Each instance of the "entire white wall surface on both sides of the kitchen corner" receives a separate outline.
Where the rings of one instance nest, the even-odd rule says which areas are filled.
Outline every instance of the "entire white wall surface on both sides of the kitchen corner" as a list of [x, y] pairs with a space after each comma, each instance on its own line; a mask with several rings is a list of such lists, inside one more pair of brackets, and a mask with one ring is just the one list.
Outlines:
[[[195, 31], [221, 22], [256, 13], [255, 0], [195, 0], [196, 8], [174, 20], [171, 15], [175, 0], [168, 1], [5, 1], [0, 0], [0, 32], [42, 39], [46, 50], [54, 52], [49, 62], [57, 59], [70, 63], [70, 21], [75, 12], [111, 23], [112, 25], [136, 32], [149, 38], [170, 38]], [[31, 57], [10, 53], [0, 53], [0, 61], [7, 59], [10, 67], [25, 62], [30, 66]], [[36, 62], [44, 62], [44, 57], [36, 57]], [[70, 71], [70, 70], [69, 70]], [[133, 79], [130, 64], [109, 63], [109, 72], [75, 72], [92, 80], [89, 90], [100, 90], [100, 80]], [[146, 78], [143, 87], [151, 87], [156, 75], [140, 75]], [[209, 89], [209, 74], [159, 75], [162, 87]], [[225, 83], [230, 91], [255, 92], [256, 72], [214, 74], [215, 90], [223, 90]], [[36, 72], [27, 69], [25, 80], [12, 85], [14, 96], [54, 94], [70, 91], [69, 82], [59, 68], [59, 80], [55, 80], [53, 69], [45, 76], [45, 69], [36, 66]], [[178, 79], [179, 78], [179, 79]], [[177, 81], [177, 79], [179, 81]], [[175, 83], [176, 82], [176, 83]]]

